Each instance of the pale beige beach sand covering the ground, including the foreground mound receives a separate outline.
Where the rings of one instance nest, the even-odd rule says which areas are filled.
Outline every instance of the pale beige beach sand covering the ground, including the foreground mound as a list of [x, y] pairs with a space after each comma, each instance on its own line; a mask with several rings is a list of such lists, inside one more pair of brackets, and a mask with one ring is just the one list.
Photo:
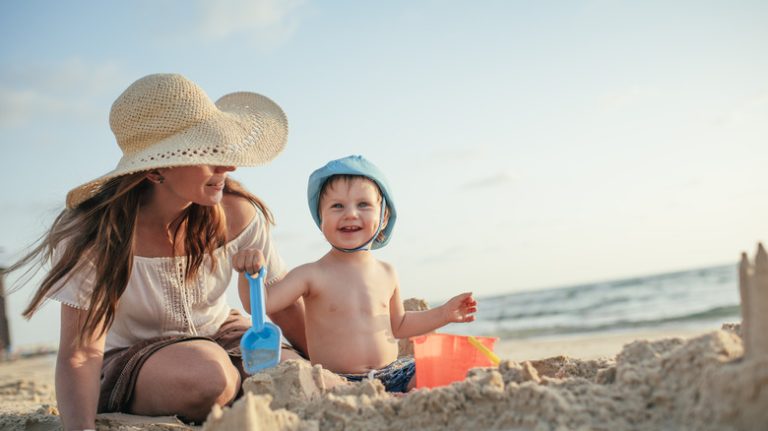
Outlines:
[[[530, 360], [507, 359], [498, 368], [472, 370], [462, 382], [401, 397], [387, 394], [377, 381], [329, 389], [326, 370], [288, 361], [248, 379], [246, 395], [230, 408], [215, 408], [202, 427], [172, 417], [114, 414], [100, 415], [98, 426], [108, 430], [767, 429], [768, 357], [744, 357], [737, 332], [718, 330], [687, 338], [665, 338], [656, 332], [647, 333], [648, 339], [621, 339], [637, 335], [560, 339], [566, 346], [563, 351], [580, 347], [579, 359], [546, 357], [558, 343], [555, 338], [505, 341], [498, 352]], [[536, 350], [536, 343], [545, 347]], [[616, 345], [617, 354], [600, 354]], [[0, 363], [0, 429], [60, 429], [52, 369], [51, 356]]]

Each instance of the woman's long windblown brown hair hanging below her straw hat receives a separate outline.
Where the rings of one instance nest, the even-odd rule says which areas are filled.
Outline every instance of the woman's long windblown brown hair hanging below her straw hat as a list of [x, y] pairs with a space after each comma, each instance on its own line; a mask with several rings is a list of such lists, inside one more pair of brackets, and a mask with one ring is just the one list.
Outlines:
[[[5, 271], [33, 264], [23, 277], [28, 280], [34, 268], [46, 262], [53, 264], [22, 313], [24, 317], [32, 317], [46, 297], [58, 290], [73, 274], [93, 270], [94, 289], [75, 343], [82, 345], [107, 331], [115, 319], [117, 302], [131, 276], [136, 219], [142, 196], [150, 187], [146, 174], [138, 172], [112, 179], [92, 198], [74, 209], [62, 211], [32, 251]], [[274, 224], [274, 217], [267, 206], [237, 181], [227, 178], [224, 193], [252, 202], [267, 221]], [[211, 265], [216, 265], [213, 251], [227, 240], [226, 219], [221, 205], [192, 204], [173, 225], [176, 226], [173, 250], [176, 250], [175, 242], [179, 234], [184, 238], [187, 280], [197, 274], [205, 255], [210, 256]], [[55, 261], [54, 251], [57, 256]]]

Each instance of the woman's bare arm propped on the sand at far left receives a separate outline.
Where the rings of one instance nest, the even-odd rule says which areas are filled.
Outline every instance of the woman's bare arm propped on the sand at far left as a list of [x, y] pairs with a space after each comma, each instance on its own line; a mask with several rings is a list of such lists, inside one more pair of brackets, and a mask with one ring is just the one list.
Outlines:
[[56, 401], [65, 430], [96, 429], [99, 379], [105, 336], [75, 345], [87, 311], [61, 305], [59, 353], [56, 358]]

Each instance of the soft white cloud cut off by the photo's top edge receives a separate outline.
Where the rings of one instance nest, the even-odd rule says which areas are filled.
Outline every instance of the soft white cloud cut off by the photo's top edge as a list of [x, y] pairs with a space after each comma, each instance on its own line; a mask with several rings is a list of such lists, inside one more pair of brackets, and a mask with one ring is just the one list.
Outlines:
[[203, 36], [210, 40], [238, 37], [272, 48], [296, 29], [296, 11], [303, 0], [226, 0], [200, 3]]

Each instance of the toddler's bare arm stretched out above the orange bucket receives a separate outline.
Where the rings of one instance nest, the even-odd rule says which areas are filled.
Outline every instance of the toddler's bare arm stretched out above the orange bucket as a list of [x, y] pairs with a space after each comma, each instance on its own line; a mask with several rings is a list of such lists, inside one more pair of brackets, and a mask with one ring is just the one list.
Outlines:
[[467, 323], [475, 320], [477, 302], [471, 292], [454, 296], [445, 304], [426, 311], [404, 311], [400, 288], [390, 300], [390, 320], [395, 338], [408, 338], [426, 334], [448, 323]]

